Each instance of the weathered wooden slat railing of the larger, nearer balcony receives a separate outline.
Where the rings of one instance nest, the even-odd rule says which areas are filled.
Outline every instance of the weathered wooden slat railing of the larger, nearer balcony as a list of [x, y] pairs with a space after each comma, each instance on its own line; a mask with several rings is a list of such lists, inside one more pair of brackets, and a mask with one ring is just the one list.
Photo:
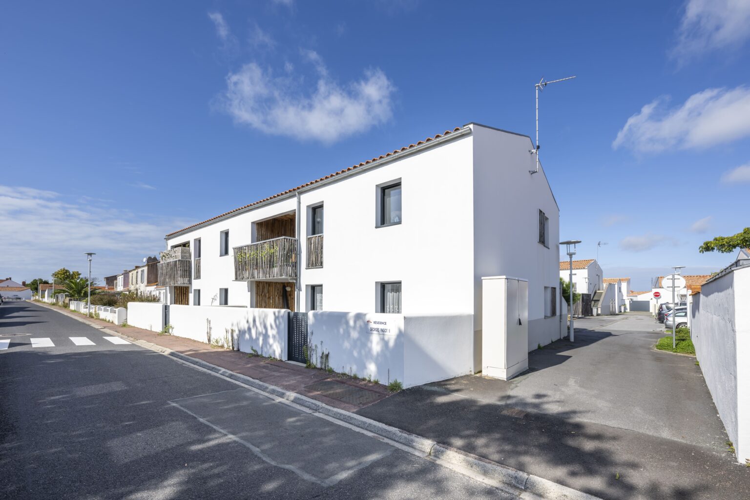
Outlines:
[[282, 236], [234, 248], [235, 280], [296, 280], [297, 238]]

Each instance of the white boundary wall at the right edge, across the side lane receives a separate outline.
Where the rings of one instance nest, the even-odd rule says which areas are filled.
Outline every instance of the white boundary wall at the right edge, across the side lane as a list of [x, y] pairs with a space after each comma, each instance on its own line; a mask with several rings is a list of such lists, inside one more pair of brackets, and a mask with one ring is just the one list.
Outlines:
[[700, 370], [740, 463], [750, 459], [750, 267], [693, 295], [691, 337]]

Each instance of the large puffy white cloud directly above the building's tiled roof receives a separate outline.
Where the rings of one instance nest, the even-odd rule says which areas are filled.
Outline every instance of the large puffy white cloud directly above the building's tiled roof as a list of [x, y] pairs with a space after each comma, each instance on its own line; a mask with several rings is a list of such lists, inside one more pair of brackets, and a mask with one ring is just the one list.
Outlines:
[[329, 76], [317, 52], [303, 50], [302, 55], [316, 67], [315, 85], [295, 77], [290, 64], [285, 64], [288, 74], [275, 76], [253, 62], [226, 76], [226, 91], [217, 102], [238, 124], [326, 143], [391, 118], [395, 88], [382, 70], [366, 70], [362, 79], [342, 86]]

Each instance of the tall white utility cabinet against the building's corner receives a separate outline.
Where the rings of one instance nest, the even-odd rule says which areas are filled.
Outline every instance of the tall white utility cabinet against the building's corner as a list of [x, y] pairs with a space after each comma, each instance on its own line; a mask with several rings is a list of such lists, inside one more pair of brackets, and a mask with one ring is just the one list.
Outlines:
[[529, 282], [481, 278], [481, 372], [512, 379], [529, 367]]

